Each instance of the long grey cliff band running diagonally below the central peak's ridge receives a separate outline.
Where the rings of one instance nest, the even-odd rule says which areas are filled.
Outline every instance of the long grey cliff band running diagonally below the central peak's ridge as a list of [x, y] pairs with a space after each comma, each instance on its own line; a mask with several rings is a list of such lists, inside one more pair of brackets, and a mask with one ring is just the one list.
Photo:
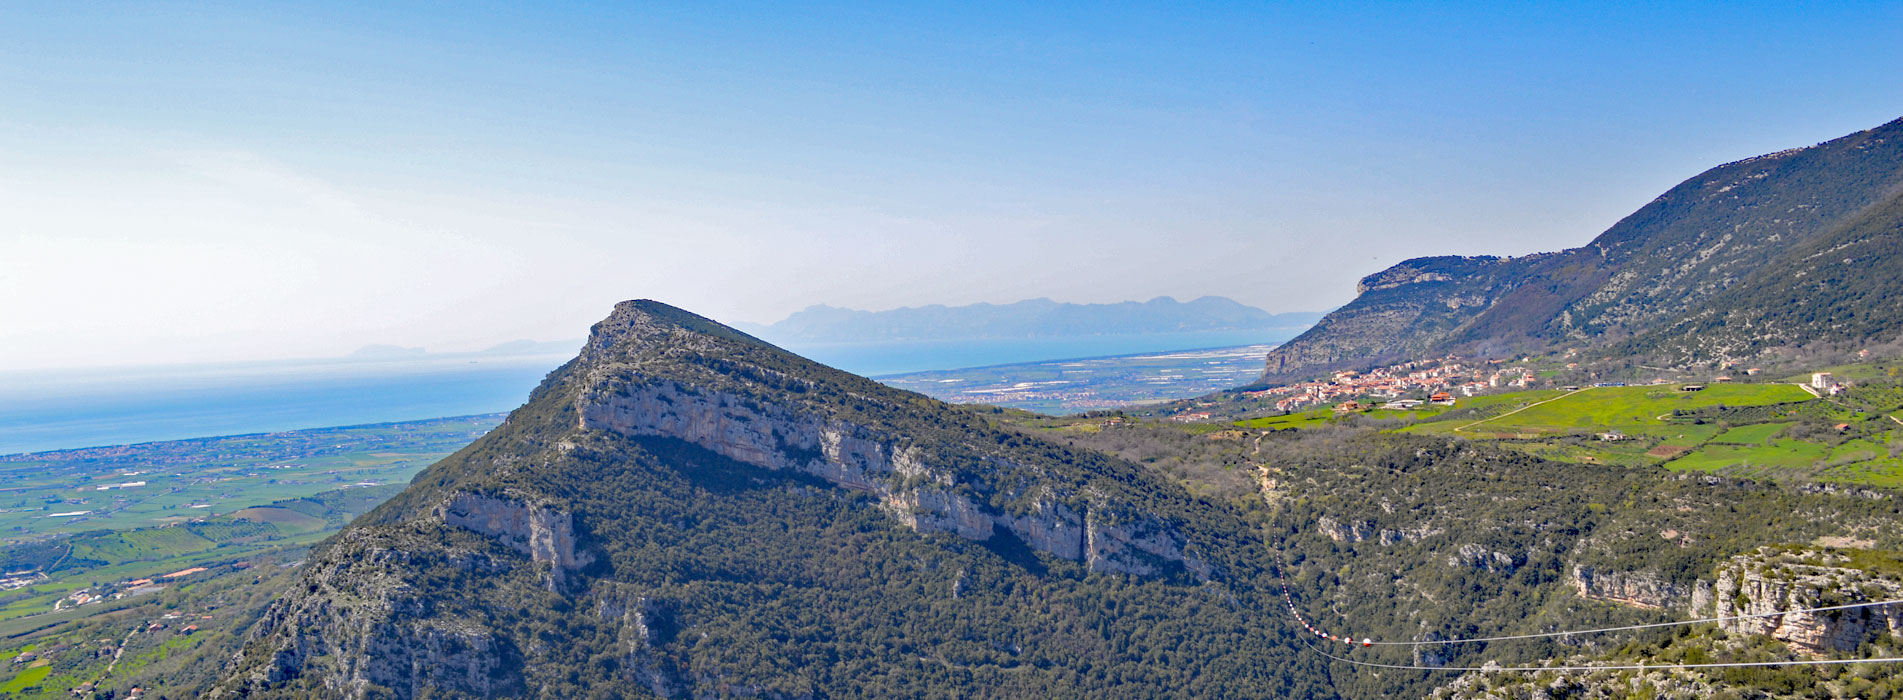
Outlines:
[[[797, 407], [655, 380], [596, 386], [580, 396], [575, 413], [582, 430], [674, 438], [736, 462], [870, 493], [894, 519], [919, 533], [984, 542], [1007, 531], [1037, 552], [1083, 561], [1096, 573], [1153, 576], [1180, 565], [1201, 578], [1210, 576], [1210, 567], [1184, 552], [1184, 538], [1168, 523], [1125, 512], [1092, 493], [1058, 493], [1043, 485], [1035, 493], [1005, 495], [1028, 508], [1003, 512], [969, 496], [990, 485], [959, 483], [908, 438]], [[1022, 470], [1001, 460], [995, 466], [999, 472]]]

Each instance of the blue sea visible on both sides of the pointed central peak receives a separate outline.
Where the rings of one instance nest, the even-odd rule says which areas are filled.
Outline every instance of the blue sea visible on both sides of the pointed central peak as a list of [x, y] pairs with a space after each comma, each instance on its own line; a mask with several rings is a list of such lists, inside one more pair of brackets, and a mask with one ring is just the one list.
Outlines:
[[[1281, 342], [1205, 331], [782, 344], [864, 377]], [[571, 354], [421, 356], [0, 373], [0, 455], [500, 413]]]

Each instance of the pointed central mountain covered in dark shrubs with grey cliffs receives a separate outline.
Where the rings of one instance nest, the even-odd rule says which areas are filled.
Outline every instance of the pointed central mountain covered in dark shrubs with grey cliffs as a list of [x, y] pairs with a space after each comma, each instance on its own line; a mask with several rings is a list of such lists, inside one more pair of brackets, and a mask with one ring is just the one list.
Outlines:
[[1330, 698], [1269, 555], [1130, 462], [624, 302], [215, 694]]

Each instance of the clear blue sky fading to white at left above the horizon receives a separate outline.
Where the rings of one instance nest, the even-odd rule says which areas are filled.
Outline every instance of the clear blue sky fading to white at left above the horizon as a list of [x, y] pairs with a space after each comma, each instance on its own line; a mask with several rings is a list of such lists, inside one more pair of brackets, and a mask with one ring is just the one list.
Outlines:
[[[1888, 4], [0, 10], [0, 363], [1226, 295], [1903, 116]], [[15, 302], [19, 301], [19, 302]]]

